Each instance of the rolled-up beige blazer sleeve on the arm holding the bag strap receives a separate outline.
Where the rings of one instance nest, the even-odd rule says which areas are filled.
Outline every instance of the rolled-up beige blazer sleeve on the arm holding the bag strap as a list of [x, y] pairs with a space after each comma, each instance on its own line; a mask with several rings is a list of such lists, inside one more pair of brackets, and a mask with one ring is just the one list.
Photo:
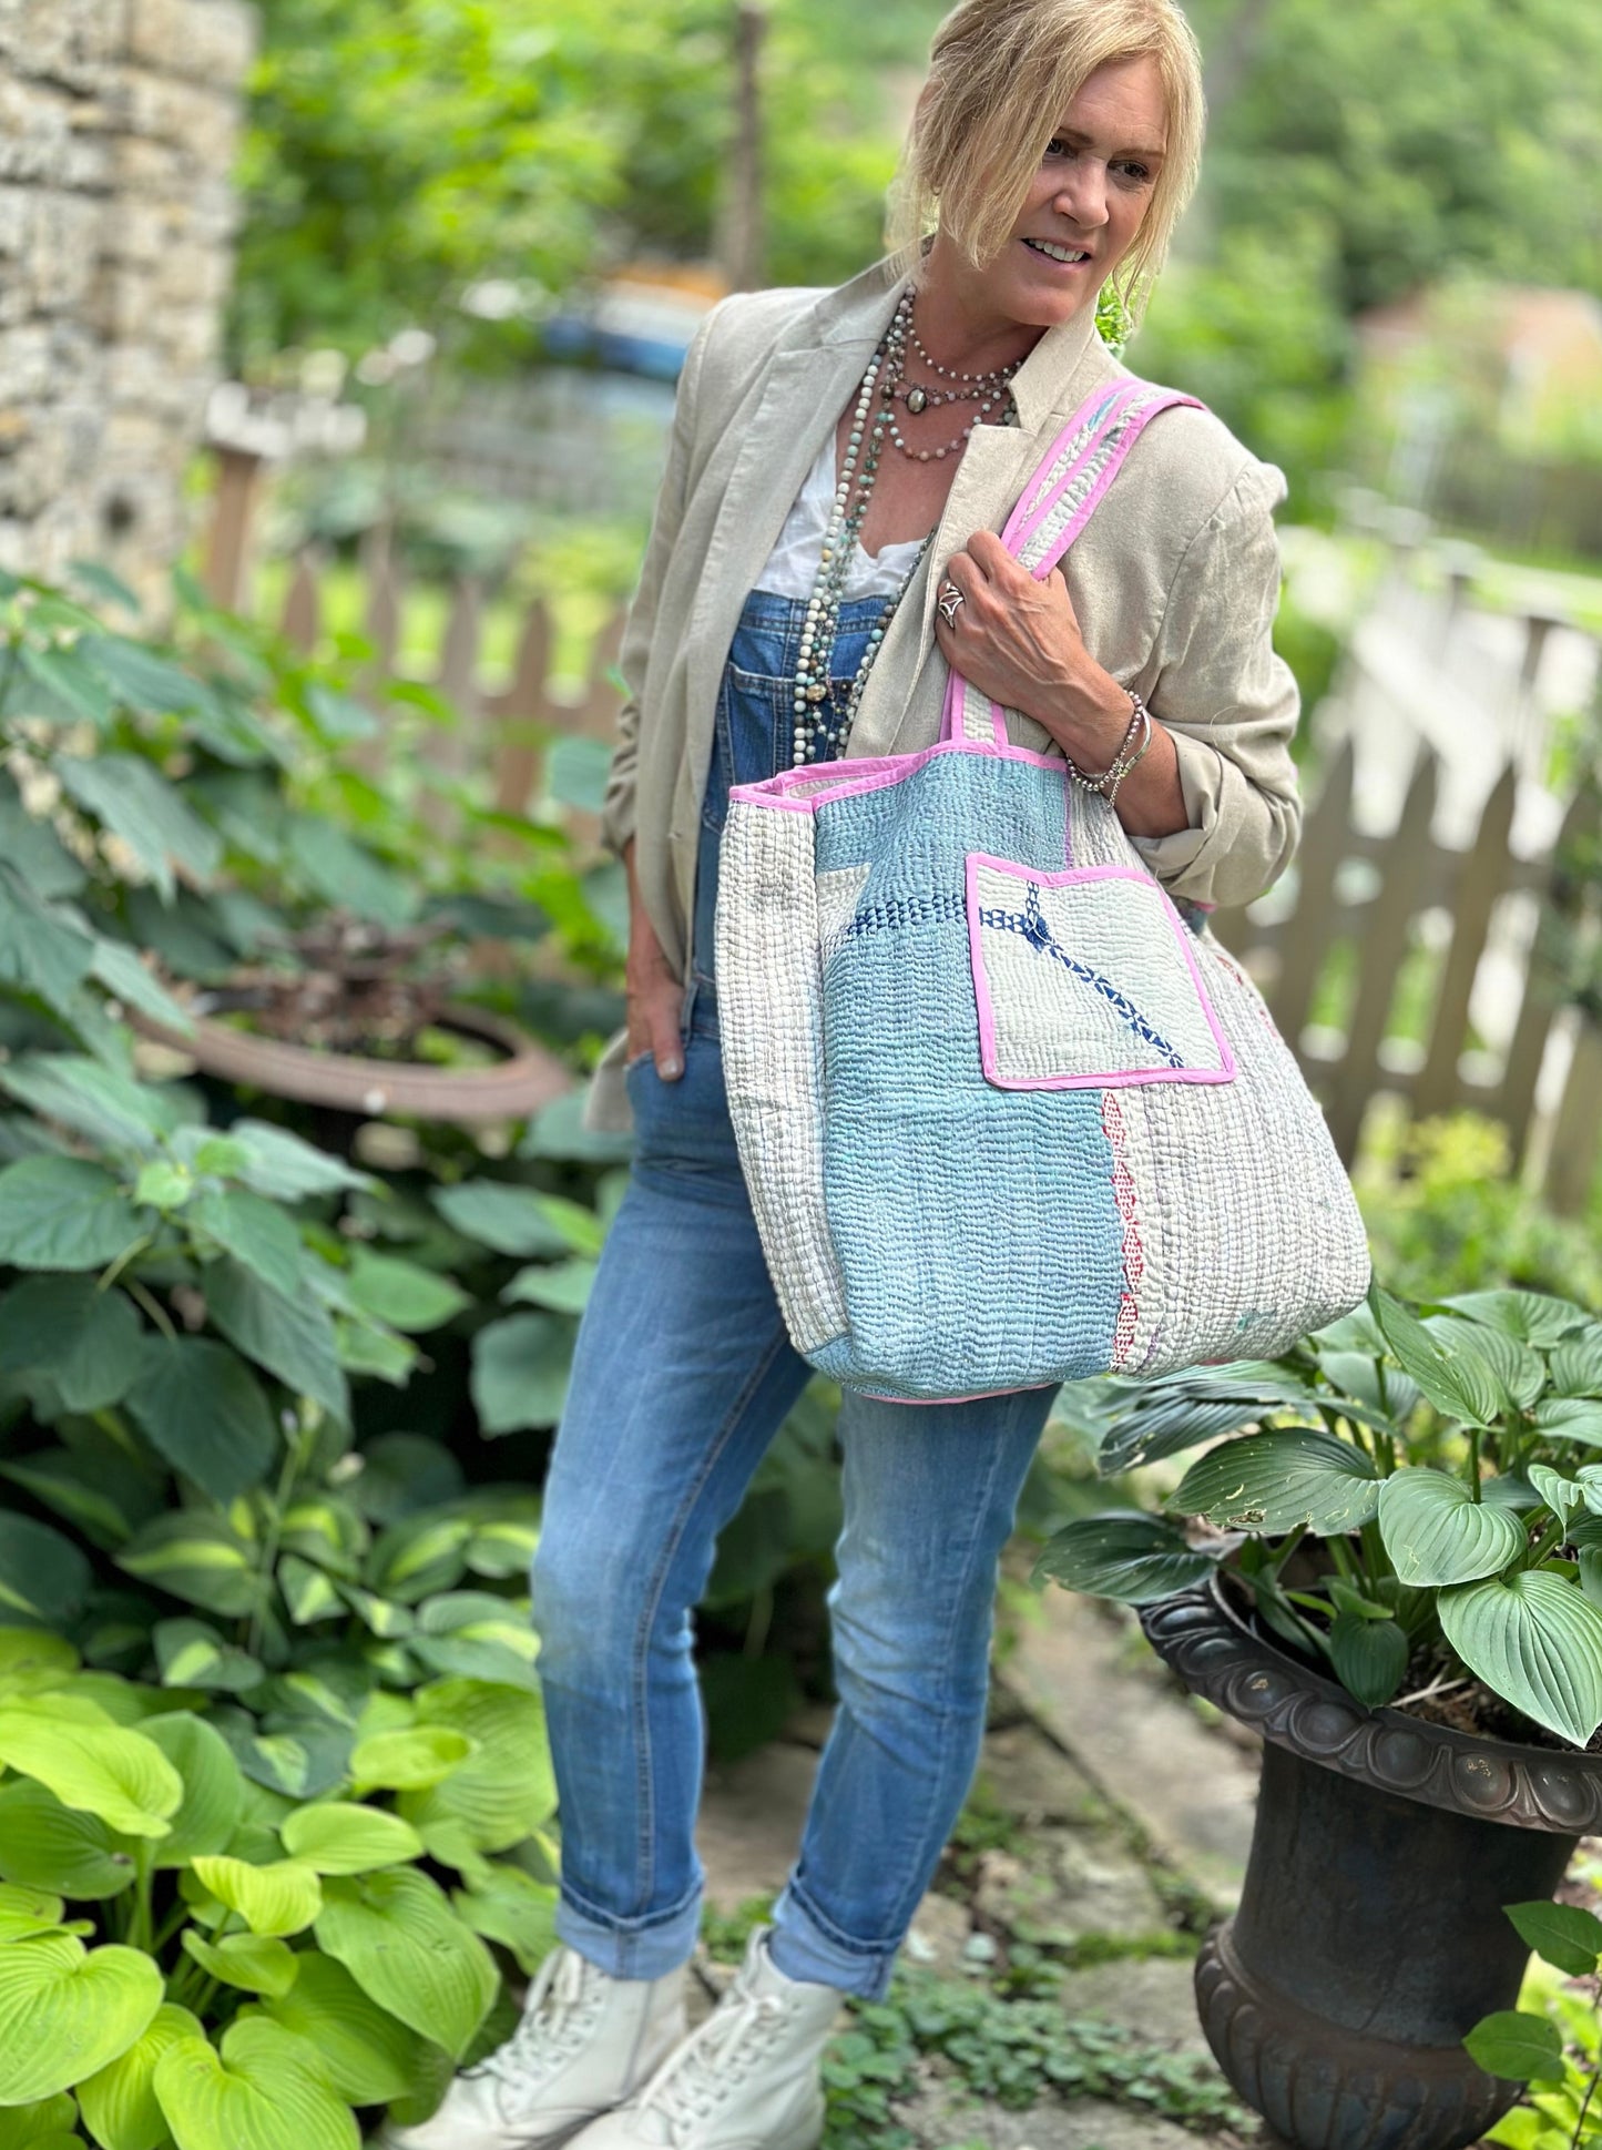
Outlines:
[[1301, 699], [1273, 647], [1286, 482], [1251, 462], [1178, 563], [1157, 634], [1150, 712], [1174, 737], [1189, 828], [1135, 836], [1174, 897], [1249, 903], [1290, 864], [1301, 834], [1290, 740]]

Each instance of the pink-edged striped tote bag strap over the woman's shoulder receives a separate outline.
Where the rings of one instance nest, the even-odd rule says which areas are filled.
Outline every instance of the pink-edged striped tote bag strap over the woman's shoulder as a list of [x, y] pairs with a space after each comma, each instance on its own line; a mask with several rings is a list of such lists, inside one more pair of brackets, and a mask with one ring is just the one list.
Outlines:
[[[1114, 381], [1095, 389], [1045, 452], [1006, 518], [1002, 544], [1013, 559], [1045, 580], [1101, 505], [1146, 426], [1178, 404], [1204, 408], [1196, 396], [1159, 389], [1150, 381]], [[1004, 746], [1006, 712], [953, 671], [940, 737]]]

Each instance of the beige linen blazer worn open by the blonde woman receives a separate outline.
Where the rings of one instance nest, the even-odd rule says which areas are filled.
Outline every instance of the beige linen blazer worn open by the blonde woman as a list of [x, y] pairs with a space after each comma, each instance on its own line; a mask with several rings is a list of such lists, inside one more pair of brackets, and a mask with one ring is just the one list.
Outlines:
[[[613, 849], [634, 838], [641, 899], [680, 976], [729, 643], [899, 290], [890, 262], [875, 262], [839, 290], [742, 292], [712, 310], [684, 361], [619, 654], [628, 701], [604, 806]], [[1013, 376], [1019, 424], [970, 436], [935, 542], [869, 675], [849, 755], [912, 752], [940, 735], [946, 662], [931, 628], [940, 568], [974, 531], [1002, 529], [1069, 417], [1118, 378], [1129, 370], [1095, 333], [1090, 310], [1028, 355]], [[1174, 735], [1189, 828], [1138, 845], [1157, 879], [1196, 903], [1247, 903], [1297, 845], [1297, 684], [1271, 641], [1273, 507], [1284, 492], [1279, 471], [1208, 411], [1165, 411], [1067, 559], [1086, 647]], [[1013, 737], [1036, 750], [1052, 744], [1034, 722], [1015, 722]], [[606, 1062], [617, 1058], [613, 1045]], [[617, 1099], [598, 1096], [596, 1107], [611, 1120]]]

